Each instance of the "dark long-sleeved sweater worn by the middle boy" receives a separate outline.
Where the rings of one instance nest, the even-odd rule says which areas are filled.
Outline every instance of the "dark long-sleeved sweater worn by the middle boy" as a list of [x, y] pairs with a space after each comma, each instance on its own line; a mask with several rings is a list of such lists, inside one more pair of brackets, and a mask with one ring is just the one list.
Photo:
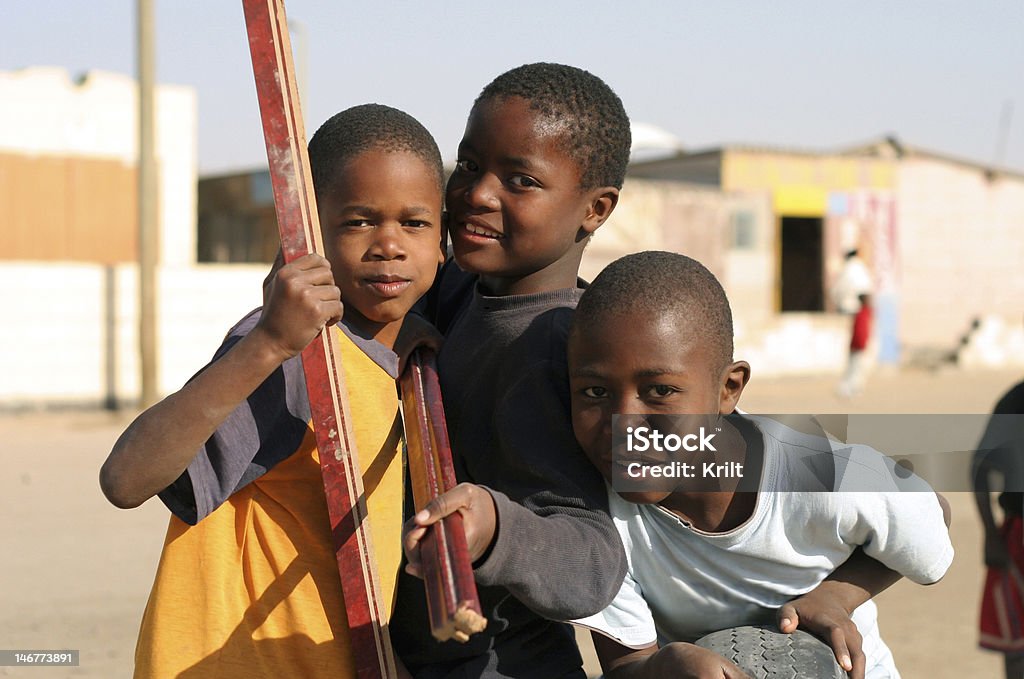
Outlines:
[[437, 643], [422, 581], [403, 574], [392, 639], [417, 677], [583, 677], [571, 630], [550, 621], [602, 609], [626, 571], [569, 415], [566, 339], [583, 291], [490, 297], [452, 262], [441, 275], [434, 320], [456, 475], [486, 486], [498, 510], [475, 571], [487, 629]]

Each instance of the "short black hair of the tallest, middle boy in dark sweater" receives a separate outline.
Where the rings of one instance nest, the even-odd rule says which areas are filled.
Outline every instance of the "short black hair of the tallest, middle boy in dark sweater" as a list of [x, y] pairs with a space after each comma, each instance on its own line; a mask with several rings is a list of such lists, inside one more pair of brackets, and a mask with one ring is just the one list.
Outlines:
[[495, 78], [473, 108], [511, 96], [566, 124], [565, 151], [580, 167], [582, 188], [623, 187], [630, 162], [630, 118], [603, 80], [571, 66], [526, 63]]

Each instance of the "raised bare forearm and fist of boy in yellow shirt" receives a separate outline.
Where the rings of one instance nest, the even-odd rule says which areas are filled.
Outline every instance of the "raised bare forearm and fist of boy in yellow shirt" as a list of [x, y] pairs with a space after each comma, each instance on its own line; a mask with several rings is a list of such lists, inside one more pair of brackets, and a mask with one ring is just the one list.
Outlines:
[[341, 311], [326, 259], [307, 255], [282, 268], [252, 332], [128, 426], [100, 469], [103, 495], [130, 508], [167, 487], [227, 416]]

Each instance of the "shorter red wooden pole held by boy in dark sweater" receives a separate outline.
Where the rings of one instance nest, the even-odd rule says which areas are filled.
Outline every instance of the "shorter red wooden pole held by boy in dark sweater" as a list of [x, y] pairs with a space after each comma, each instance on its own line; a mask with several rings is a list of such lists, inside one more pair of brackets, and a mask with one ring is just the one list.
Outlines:
[[[399, 380], [416, 511], [456, 485], [433, 350], [416, 349]], [[430, 632], [438, 641], [467, 641], [487, 626], [473, 580], [462, 514], [445, 516], [420, 541]]]

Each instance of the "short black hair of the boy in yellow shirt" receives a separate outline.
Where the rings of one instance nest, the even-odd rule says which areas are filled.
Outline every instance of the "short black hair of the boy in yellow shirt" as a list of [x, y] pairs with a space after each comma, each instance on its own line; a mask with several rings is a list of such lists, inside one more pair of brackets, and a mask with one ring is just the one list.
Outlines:
[[442, 189], [441, 153], [427, 128], [403, 111], [364, 103], [335, 114], [309, 139], [309, 168], [316, 193], [334, 179], [338, 168], [371, 148], [418, 156], [436, 173], [437, 187]]

